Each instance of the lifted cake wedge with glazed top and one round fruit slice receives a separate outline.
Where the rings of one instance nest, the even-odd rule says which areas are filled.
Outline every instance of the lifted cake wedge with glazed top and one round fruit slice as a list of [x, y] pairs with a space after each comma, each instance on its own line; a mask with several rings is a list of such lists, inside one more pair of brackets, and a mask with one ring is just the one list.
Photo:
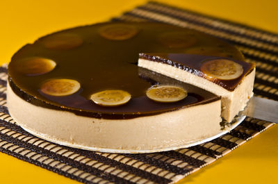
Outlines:
[[184, 53], [140, 53], [138, 66], [222, 97], [221, 116], [227, 122], [253, 96], [255, 65], [245, 61]]

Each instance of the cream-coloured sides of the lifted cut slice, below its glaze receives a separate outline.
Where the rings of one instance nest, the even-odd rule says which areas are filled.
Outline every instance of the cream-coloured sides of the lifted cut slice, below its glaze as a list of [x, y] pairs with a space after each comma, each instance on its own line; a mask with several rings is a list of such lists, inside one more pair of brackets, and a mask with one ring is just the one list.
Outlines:
[[138, 66], [144, 67], [154, 72], [158, 72], [165, 76], [170, 76], [185, 83], [190, 83], [204, 90], [207, 90], [208, 92], [212, 92], [213, 94], [221, 96], [221, 116], [226, 119], [227, 122], [231, 122], [234, 116], [237, 115], [240, 110], [243, 110], [243, 108], [246, 106], [247, 101], [253, 95], [252, 90], [254, 85], [255, 71], [252, 71], [249, 75], [247, 75], [243, 79], [242, 83], [240, 83], [240, 85], [236, 87], [234, 92], [230, 92], [220, 85], [206, 80], [205, 78], [195, 76], [194, 74], [186, 72], [182, 69], [172, 67], [171, 65], [163, 64], [161, 62], [154, 62], [152, 60], [145, 60], [140, 58], [138, 60]]

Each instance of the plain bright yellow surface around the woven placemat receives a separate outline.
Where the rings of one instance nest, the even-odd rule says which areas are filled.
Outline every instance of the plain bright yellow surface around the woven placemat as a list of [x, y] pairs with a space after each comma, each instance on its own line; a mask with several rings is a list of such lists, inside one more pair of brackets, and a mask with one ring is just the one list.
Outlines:
[[[74, 26], [104, 22], [145, 2], [147, 1], [1, 0], [0, 64], [9, 62], [15, 51], [42, 35]], [[161, 2], [278, 33], [278, 1]], [[277, 183], [277, 174], [278, 126], [272, 126], [227, 156], [187, 176], [179, 183]], [[0, 153], [0, 183], [78, 182]]]

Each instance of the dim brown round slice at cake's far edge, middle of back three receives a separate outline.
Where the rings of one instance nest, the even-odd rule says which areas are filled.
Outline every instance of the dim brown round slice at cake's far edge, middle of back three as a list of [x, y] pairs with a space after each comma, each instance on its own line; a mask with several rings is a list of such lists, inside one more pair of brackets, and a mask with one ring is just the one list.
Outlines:
[[101, 27], [99, 34], [108, 40], [127, 40], [138, 33], [138, 28], [126, 24], [113, 24]]

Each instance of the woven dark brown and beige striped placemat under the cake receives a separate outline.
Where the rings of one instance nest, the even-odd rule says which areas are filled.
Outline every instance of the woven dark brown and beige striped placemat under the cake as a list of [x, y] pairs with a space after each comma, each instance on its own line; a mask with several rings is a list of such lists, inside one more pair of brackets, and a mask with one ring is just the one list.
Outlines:
[[[278, 35], [149, 2], [112, 21], [165, 22], [215, 35], [256, 62], [254, 93], [278, 101]], [[247, 117], [211, 142], [161, 153], [115, 154], [63, 147], [17, 126], [6, 108], [6, 67], [0, 67], [0, 151], [83, 183], [174, 183], [272, 126]]]

